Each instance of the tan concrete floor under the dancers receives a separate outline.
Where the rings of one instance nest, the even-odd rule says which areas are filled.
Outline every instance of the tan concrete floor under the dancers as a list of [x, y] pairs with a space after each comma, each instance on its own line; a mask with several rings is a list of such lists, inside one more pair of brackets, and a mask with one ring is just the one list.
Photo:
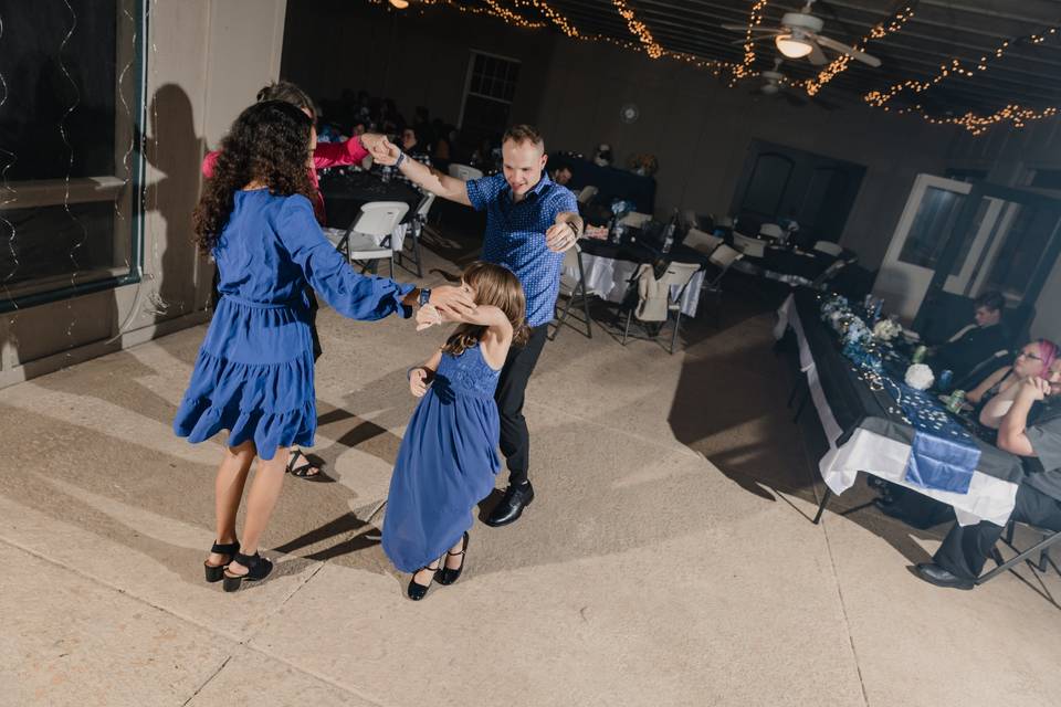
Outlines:
[[333, 483], [286, 482], [274, 577], [233, 595], [201, 570], [221, 440], [170, 431], [204, 327], [3, 390], [0, 705], [1057, 705], [1061, 578], [925, 584], [938, 534], [836, 515], [861, 485], [809, 523], [821, 432], [737, 289], [674, 356], [548, 344], [537, 499], [419, 604], [369, 515], [438, 330], [322, 312]]

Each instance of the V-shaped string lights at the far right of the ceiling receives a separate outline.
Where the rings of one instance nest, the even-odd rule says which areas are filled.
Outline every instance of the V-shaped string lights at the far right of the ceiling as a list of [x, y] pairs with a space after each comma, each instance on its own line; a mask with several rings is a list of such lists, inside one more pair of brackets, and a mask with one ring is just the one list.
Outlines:
[[[994, 51], [981, 55], [975, 66], [971, 67], [967, 67], [957, 57], [950, 57], [949, 61], [939, 65], [939, 71], [932, 78], [926, 81], [907, 80], [894, 84], [886, 91], [871, 91], [862, 98], [874, 108], [883, 108], [886, 112], [893, 110], [887, 104], [890, 101], [892, 101], [892, 98], [902, 93], [924, 93], [933, 86], [936, 86], [954, 76], [973, 77], [977, 72], [987, 71], [992, 62], [1002, 59], [1012, 45], [1021, 42], [1036, 45], [1042, 44], [1048, 38], [1055, 36], [1058, 32], [1058, 27], [1051, 27], [1042, 30], [1041, 32], [1004, 40], [995, 48]], [[983, 135], [988, 128], [1000, 123], [1010, 123], [1015, 128], [1022, 128], [1026, 124], [1032, 120], [1041, 120], [1043, 118], [1053, 117], [1058, 114], [1058, 110], [1059, 108], [1057, 106], [1036, 109], [1021, 106], [1019, 104], [1009, 104], [1002, 108], [999, 108], [995, 113], [991, 113], [990, 115], [978, 115], [970, 110], [962, 116], [941, 117], [926, 114], [918, 104], [912, 107], [894, 109], [894, 113], [899, 115], [913, 113], [920, 115], [923, 119], [932, 125], [955, 125], [965, 128], [974, 136], [977, 136]]]

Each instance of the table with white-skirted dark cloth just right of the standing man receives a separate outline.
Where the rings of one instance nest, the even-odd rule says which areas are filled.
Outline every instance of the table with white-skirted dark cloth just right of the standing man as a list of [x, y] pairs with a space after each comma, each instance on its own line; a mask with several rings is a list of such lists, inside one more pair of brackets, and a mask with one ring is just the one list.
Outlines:
[[[607, 302], [619, 303], [627, 292], [630, 278], [642, 263], [651, 263], [660, 256], [660, 251], [649, 244], [609, 243], [597, 239], [581, 239], [578, 242], [582, 251], [582, 268], [586, 272], [586, 292], [597, 295]], [[707, 258], [693, 249], [677, 244], [670, 252], [670, 260], [675, 263], [696, 263], [704, 265]], [[565, 274], [578, 278], [576, 268], [566, 270]], [[700, 288], [704, 283], [704, 271], [700, 270], [685, 287], [682, 294], [681, 309], [685, 316], [696, 316], [700, 304]], [[671, 295], [677, 296], [680, 288], [672, 287]]]

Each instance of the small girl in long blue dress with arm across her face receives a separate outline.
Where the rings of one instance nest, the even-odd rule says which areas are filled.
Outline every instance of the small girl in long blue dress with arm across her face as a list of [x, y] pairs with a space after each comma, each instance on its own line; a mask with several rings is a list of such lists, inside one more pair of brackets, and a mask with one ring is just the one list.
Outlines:
[[493, 490], [501, 468], [497, 377], [508, 347], [528, 335], [523, 286], [512, 272], [472, 263], [462, 286], [475, 300], [474, 313], [441, 313], [461, 325], [423, 366], [409, 370], [420, 403], [398, 451], [384, 518], [384, 551], [399, 570], [413, 572], [412, 600], [423, 599], [433, 579], [452, 584], [464, 569], [472, 510]]

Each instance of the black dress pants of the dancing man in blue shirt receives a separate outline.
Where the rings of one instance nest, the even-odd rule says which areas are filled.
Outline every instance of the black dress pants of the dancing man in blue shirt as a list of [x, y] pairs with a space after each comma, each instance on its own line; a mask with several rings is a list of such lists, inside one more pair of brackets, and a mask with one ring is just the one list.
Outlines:
[[501, 453], [508, 461], [508, 483], [522, 484], [527, 481], [527, 467], [530, 464], [530, 434], [527, 420], [523, 416], [523, 401], [527, 381], [538, 362], [545, 346], [548, 324], [530, 329], [530, 338], [522, 347], [511, 347], [505, 366], [497, 379], [497, 413], [501, 418]]

